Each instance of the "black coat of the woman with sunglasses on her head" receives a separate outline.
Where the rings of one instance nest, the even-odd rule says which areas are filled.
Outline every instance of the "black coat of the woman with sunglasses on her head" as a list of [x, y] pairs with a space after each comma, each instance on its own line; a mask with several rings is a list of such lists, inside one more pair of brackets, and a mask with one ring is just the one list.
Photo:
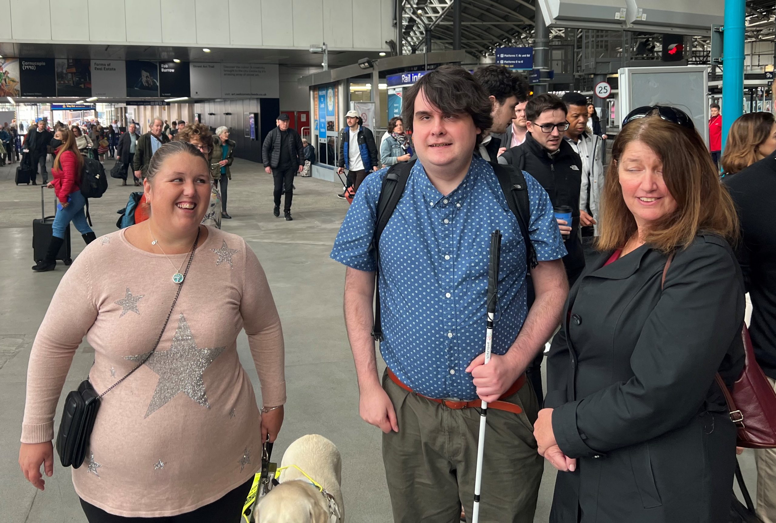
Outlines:
[[[553, 523], [726, 523], [736, 428], [715, 385], [743, 369], [744, 295], [726, 241], [695, 238], [660, 280], [649, 245], [572, 287], [548, 357], [545, 407], [577, 470], [558, 473]], [[584, 515], [577, 519], [577, 507]]]

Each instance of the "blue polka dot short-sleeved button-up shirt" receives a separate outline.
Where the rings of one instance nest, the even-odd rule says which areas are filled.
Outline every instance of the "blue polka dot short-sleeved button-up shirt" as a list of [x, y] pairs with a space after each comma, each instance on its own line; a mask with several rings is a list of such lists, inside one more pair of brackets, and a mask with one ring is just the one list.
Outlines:
[[[369, 246], [387, 169], [362, 182], [339, 230], [331, 258], [373, 272]], [[539, 261], [563, 258], [549, 196], [527, 173], [529, 234]], [[417, 161], [380, 237], [380, 352], [402, 383], [428, 397], [474, 400], [465, 371], [485, 350], [490, 234], [501, 230], [501, 271], [493, 353], [508, 351], [528, 314], [525, 244], [493, 168], [473, 157], [466, 178], [444, 196]]]

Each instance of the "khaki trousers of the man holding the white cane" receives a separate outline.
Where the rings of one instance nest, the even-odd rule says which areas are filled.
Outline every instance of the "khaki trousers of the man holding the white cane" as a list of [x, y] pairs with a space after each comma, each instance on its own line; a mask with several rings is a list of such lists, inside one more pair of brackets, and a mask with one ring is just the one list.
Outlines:
[[[403, 390], [387, 374], [383, 389], [399, 424], [383, 435], [393, 521], [456, 523], [461, 507], [471, 521], [479, 409], [449, 409]], [[528, 381], [505, 400], [524, 411], [488, 409], [480, 521], [532, 523], [544, 466], [533, 436], [539, 405]]]

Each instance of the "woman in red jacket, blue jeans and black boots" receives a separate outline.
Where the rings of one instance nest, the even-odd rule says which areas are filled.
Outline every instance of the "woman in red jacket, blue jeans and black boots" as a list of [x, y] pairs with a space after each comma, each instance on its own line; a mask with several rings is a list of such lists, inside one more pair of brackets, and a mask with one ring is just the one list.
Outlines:
[[59, 204], [57, 205], [57, 216], [54, 216], [54, 223], [51, 226], [52, 236], [49, 243], [46, 257], [33, 265], [33, 271], [45, 272], [54, 270], [57, 265], [57, 253], [64, 243], [64, 233], [68, 223], [73, 225], [86, 244], [95, 240], [96, 235], [89, 227], [84, 214], [86, 199], [81, 195], [81, 168], [84, 160], [75, 144], [75, 136], [71, 130], [60, 129], [54, 135], [54, 138], [61, 140], [61, 145], [57, 147], [54, 158], [54, 166], [51, 173], [54, 180], [49, 182], [48, 186], [53, 187], [57, 193]]

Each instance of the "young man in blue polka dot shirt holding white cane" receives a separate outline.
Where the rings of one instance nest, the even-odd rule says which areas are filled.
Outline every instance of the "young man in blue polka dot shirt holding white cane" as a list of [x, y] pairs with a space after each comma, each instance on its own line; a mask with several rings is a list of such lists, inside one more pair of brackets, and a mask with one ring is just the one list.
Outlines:
[[[345, 324], [361, 417], [383, 430], [394, 521], [449, 523], [473, 505], [480, 400], [489, 408], [480, 521], [534, 518], [542, 457], [539, 409], [525, 368], [559, 324], [566, 255], [549, 196], [525, 175], [528, 232], [539, 265], [526, 307], [526, 249], [493, 168], [475, 157], [492, 104], [472, 74], [442, 66], [404, 96], [417, 159], [379, 241], [379, 299], [387, 369], [372, 338], [376, 261], [370, 250], [386, 169], [369, 175], [345, 216], [331, 258], [348, 266]], [[493, 357], [484, 362], [490, 235], [501, 230]], [[444, 400], [440, 403], [439, 400]], [[469, 402], [471, 402], [469, 404]]]

